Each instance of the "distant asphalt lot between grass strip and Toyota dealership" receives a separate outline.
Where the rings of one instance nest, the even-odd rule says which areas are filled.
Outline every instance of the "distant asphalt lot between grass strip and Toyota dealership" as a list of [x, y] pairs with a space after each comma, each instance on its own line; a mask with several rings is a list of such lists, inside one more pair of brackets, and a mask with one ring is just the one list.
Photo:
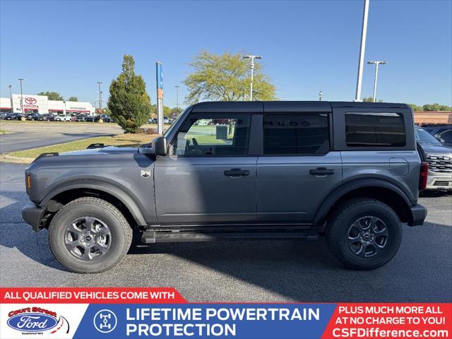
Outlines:
[[1, 121], [0, 125], [13, 132], [0, 134], [0, 153], [122, 133], [117, 124]]

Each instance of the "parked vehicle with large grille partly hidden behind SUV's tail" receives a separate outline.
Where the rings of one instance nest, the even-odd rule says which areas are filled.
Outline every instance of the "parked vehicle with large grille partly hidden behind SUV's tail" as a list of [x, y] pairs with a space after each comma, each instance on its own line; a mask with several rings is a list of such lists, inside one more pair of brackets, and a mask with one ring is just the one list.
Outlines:
[[442, 145], [432, 134], [418, 126], [415, 126], [415, 136], [429, 163], [426, 189], [451, 191], [452, 149]]

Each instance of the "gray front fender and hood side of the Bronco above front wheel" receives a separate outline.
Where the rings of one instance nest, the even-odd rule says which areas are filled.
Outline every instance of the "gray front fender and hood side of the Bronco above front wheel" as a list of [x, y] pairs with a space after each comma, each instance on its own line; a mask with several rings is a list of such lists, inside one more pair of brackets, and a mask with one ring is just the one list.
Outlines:
[[136, 148], [109, 153], [98, 148], [42, 157], [27, 169], [33, 182], [30, 200], [42, 206], [69, 189], [98, 189], [135, 205], [145, 225], [152, 225], [157, 223], [153, 177], [141, 177], [141, 169], [151, 169], [152, 174], [153, 163], [152, 157], [137, 153]]

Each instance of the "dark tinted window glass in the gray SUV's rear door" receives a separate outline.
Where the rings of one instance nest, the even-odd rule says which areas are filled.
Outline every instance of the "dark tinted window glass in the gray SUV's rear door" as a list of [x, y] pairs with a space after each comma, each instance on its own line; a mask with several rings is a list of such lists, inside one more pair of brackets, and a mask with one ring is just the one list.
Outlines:
[[328, 153], [327, 114], [266, 114], [263, 117], [263, 153], [319, 155]]

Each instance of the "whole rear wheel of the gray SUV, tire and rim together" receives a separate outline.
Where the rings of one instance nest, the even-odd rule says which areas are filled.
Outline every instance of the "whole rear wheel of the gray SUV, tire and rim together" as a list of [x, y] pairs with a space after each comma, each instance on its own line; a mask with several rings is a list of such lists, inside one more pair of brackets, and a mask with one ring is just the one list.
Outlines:
[[402, 240], [394, 210], [374, 199], [352, 199], [339, 206], [326, 225], [326, 241], [347, 268], [371, 270], [388, 263]]

